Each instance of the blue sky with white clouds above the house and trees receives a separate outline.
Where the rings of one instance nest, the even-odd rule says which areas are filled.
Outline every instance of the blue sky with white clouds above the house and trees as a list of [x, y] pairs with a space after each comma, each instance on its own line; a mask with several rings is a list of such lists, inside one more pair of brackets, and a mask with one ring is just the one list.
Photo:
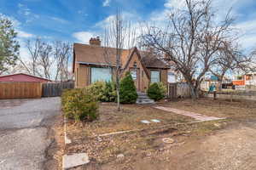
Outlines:
[[[0, 0], [0, 14], [15, 22], [20, 41], [42, 37], [49, 41], [88, 42], [102, 32], [104, 21], [120, 8], [128, 20], [162, 21], [182, 0]], [[232, 7], [244, 48], [256, 46], [255, 0], [213, 0], [222, 18]]]

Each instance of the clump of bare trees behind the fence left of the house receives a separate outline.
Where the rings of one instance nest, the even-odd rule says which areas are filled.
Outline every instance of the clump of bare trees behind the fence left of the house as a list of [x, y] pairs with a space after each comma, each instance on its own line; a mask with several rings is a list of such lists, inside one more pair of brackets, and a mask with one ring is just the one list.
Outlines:
[[66, 81], [71, 77], [68, 71], [72, 54], [70, 43], [45, 42], [37, 38], [34, 41], [27, 41], [26, 48], [29, 57], [19, 57], [19, 64], [16, 65], [19, 71], [55, 81]]

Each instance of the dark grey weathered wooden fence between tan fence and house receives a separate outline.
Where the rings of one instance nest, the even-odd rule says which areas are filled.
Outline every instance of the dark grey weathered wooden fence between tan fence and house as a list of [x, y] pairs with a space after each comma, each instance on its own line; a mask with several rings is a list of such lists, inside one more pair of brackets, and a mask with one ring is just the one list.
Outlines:
[[74, 82], [49, 82], [43, 84], [43, 97], [61, 96], [62, 90], [74, 88]]

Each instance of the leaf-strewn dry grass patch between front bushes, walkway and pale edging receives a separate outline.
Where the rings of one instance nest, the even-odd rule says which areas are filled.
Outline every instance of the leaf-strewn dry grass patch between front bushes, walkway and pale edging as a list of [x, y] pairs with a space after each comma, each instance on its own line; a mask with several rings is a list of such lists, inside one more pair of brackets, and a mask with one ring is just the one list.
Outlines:
[[[151, 122], [144, 124], [142, 120], [158, 119], [160, 123]], [[115, 133], [126, 130], [137, 130], [148, 127], [159, 127], [166, 124], [191, 122], [193, 119], [187, 116], [179, 116], [170, 112], [160, 111], [147, 105], [122, 105], [122, 110], [117, 111], [115, 104], [100, 105], [100, 119], [95, 122], [86, 122], [79, 127], [69, 123], [67, 131], [72, 136], [75, 133], [93, 137], [102, 133]]]

